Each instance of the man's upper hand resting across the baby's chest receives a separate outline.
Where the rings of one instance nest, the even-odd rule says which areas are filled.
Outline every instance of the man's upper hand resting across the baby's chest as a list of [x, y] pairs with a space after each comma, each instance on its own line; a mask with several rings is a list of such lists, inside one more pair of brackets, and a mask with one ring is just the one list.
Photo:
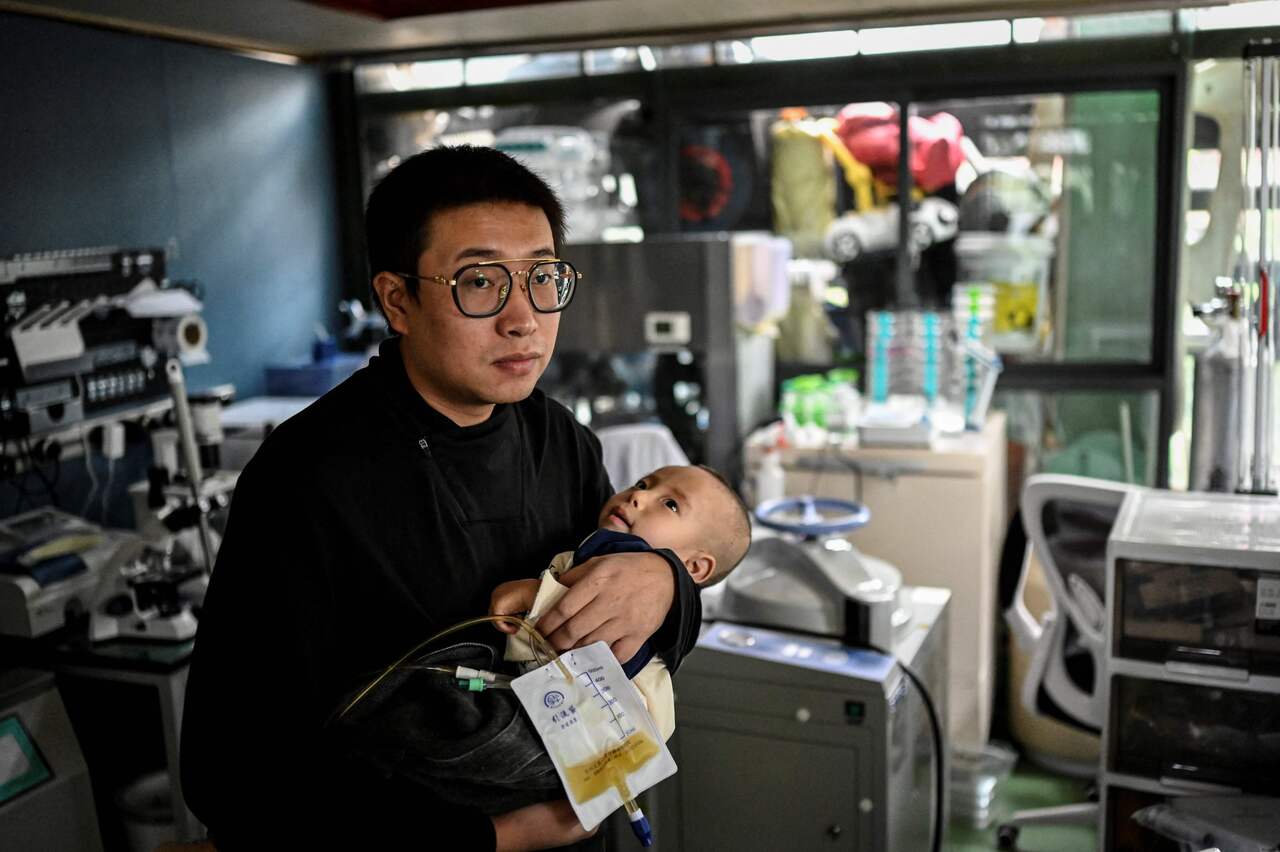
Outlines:
[[558, 651], [603, 641], [625, 663], [662, 627], [676, 597], [671, 565], [655, 553], [596, 556], [570, 573], [561, 578], [570, 590], [538, 619]]

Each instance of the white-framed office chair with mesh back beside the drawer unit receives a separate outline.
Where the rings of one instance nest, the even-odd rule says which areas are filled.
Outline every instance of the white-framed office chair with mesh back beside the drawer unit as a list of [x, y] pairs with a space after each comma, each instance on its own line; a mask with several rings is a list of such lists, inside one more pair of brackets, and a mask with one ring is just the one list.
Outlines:
[[[1021, 553], [1016, 587], [1002, 583], [1001, 605], [1014, 638], [1032, 654], [1023, 706], [1093, 734], [1101, 733], [1106, 713], [1107, 537], [1125, 495], [1137, 487], [1079, 476], [1033, 476], [1023, 486], [1024, 536], [1016, 535], [1015, 521], [1005, 542], [1006, 558], [1016, 559]], [[1032, 615], [1023, 600], [1033, 554], [1052, 597], [1042, 619]], [[1011, 849], [1024, 825], [1091, 824], [1097, 819], [1097, 802], [1034, 809], [1014, 814], [998, 825], [996, 835], [1000, 848]]]

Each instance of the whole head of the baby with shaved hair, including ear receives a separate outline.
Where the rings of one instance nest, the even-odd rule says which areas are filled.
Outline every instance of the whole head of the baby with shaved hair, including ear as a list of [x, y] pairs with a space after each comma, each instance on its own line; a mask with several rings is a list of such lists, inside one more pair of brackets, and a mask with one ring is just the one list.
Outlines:
[[746, 507], [719, 473], [701, 466], [649, 473], [609, 498], [599, 525], [675, 551], [699, 586], [724, 580], [751, 544]]

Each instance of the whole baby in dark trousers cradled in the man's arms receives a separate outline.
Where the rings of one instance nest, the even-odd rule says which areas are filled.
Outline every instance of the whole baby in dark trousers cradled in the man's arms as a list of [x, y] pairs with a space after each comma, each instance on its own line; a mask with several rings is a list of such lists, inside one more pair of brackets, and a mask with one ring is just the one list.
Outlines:
[[[536, 619], [581, 576], [576, 565], [607, 553], [668, 549], [700, 587], [723, 580], [746, 554], [750, 518], [718, 473], [705, 467], [664, 467], [613, 495], [600, 528], [577, 550], [556, 556], [539, 580], [494, 590], [490, 611]], [[532, 663], [517, 628], [507, 659]], [[500, 665], [488, 643], [456, 641], [383, 678], [335, 723], [357, 761], [385, 777], [420, 784], [445, 801], [503, 814], [564, 794], [556, 768], [509, 688], [458, 688], [456, 667]], [[511, 667], [516, 668], [516, 667]], [[623, 664], [663, 738], [675, 730], [675, 698], [666, 665], [646, 642]], [[343, 698], [346, 706], [352, 696]]]

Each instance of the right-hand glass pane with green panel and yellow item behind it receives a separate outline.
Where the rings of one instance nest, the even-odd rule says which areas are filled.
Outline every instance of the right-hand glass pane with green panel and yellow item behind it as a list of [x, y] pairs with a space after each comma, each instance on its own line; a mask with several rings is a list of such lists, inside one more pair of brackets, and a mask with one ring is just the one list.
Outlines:
[[952, 303], [1014, 361], [1151, 359], [1160, 96], [922, 104], [959, 119]]

